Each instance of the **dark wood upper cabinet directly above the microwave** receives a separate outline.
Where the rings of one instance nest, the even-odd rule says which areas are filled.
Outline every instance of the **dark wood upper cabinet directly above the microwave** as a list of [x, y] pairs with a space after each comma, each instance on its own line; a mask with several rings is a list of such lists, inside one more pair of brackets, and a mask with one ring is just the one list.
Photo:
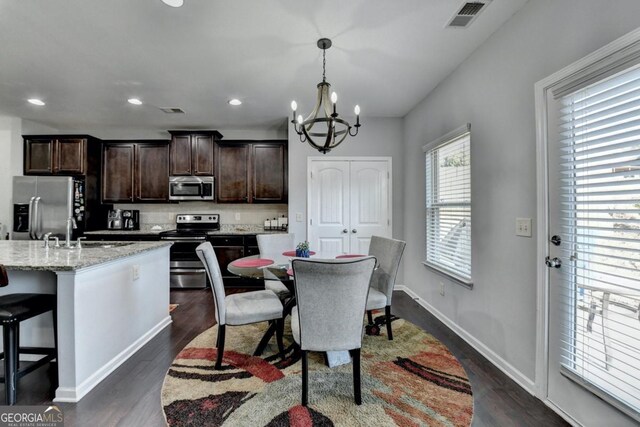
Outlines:
[[220, 132], [170, 130], [171, 176], [214, 175], [214, 144], [222, 139]]

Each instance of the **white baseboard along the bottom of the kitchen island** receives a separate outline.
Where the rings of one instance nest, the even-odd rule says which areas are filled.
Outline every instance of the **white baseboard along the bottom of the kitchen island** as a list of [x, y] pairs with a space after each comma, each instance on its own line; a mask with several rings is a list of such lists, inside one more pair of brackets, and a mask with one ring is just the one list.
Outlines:
[[56, 397], [54, 402], [70, 402], [76, 403], [89, 393], [95, 386], [100, 384], [109, 374], [115, 371], [127, 359], [129, 359], [142, 346], [151, 341], [160, 331], [171, 324], [171, 316], [162, 319], [157, 325], [151, 328], [147, 333], [135, 340], [129, 347], [125, 348], [113, 359], [103, 365], [100, 369], [93, 373], [89, 378], [84, 380], [78, 387], [58, 387], [56, 389]]

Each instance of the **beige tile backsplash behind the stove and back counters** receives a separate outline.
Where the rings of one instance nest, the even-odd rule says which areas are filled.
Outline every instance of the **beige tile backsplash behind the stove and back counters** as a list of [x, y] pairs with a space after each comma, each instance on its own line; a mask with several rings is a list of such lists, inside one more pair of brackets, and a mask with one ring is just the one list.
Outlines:
[[177, 214], [220, 214], [220, 224], [264, 224], [267, 218], [288, 215], [288, 205], [216, 204], [180, 202], [166, 204], [116, 204], [115, 209], [140, 210], [140, 225], [175, 224]]

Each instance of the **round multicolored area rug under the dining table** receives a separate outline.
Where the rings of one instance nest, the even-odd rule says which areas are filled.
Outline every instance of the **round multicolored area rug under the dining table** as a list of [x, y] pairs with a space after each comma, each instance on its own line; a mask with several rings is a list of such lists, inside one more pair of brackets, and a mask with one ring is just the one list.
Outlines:
[[[376, 318], [383, 323], [384, 317]], [[309, 406], [300, 405], [300, 356], [251, 356], [266, 323], [228, 327], [222, 369], [216, 371], [217, 326], [178, 354], [162, 386], [170, 426], [468, 426], [473, 415], [469, 379], [447, 348], [417, 326], [393, 321], [365, 335], [362, 405], [353, 401], [352, 365], [329, 368], [309, 355]], [[290, 334], [290, 329], [285, 329]], [[369, 330], [371, 333], [371, 330]], [[291, 337], [285, 335], [288, 343]], [[275, 341], [273, 339], [272, 341]]]

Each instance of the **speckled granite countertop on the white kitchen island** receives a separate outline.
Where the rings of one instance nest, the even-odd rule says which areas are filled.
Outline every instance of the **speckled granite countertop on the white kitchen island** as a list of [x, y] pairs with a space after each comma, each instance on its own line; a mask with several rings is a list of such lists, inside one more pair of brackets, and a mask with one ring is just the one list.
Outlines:
[[141, 252], [170, 246], [169, 242], [99, 242], [86, 243], [82, 249], [45, 249], [41, 240], [0, 241], [0, 264], [7, 270], [73, 271], [126, 258]]

